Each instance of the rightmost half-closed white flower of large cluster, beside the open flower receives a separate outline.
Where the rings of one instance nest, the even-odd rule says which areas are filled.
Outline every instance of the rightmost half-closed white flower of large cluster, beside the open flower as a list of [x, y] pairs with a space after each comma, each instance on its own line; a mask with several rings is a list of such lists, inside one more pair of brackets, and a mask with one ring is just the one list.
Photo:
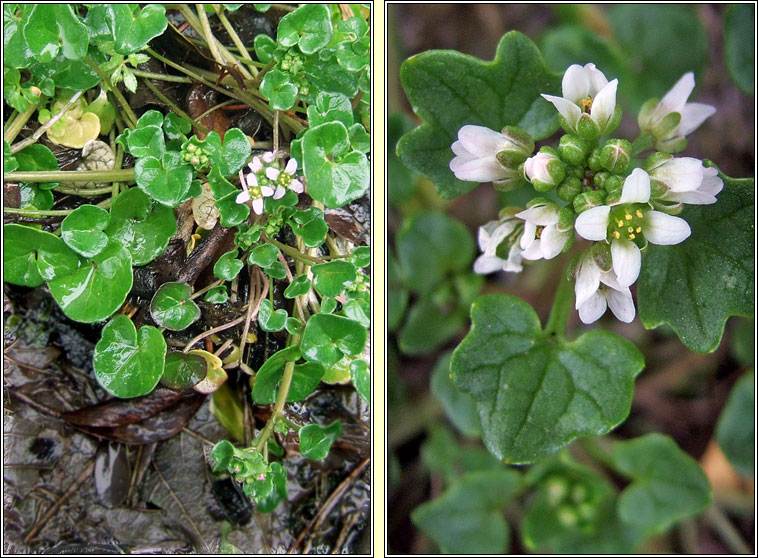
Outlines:
[[669, 156], [647, 168], [647, 172], [653, 185], [665, 190], [658, 196], [664, 201], [708, 205], [716, 203], [716, 194], [724, 188], [718, 170], [692, 157]]

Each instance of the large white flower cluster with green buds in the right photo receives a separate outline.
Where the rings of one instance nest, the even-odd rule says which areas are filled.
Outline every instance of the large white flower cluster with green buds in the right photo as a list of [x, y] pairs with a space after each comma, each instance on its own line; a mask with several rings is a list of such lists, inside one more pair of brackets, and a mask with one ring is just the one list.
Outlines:
[[[534, 198], [523, 210], [505, 208], [499, 219], [480, 227], [482, 255], [474, 271], [519, 272], [523, 260], [567, 252], [576, 236], [590, 241], [572, 260], [576, 309], [584, 323], [599, 319], [608, 307], [619, 320], [631, 322], [635, 308], [629, 288], [648, 243], [683, 242], [691, 234], [687, 221], [676, 216], [683, 204], [715, 203], [723, 188], [715, 168], [672, 155], [715, 112], [686, 102], [695, 86], [692, 73], [660, 102], [645, 103], [634, 144], [602, 141], [621, 121], [617, 85], [594, 64], [574, 64], [563, 76], [563, 97], [542, 95], [558, 110], [566, 132], [556, 149], [542, 147], [534, 154], [534, 142], [523, 130], [472, 125], [463, 126], [452, 145], [450, 169], [460, 180], [492, 181], [501, 189], [529, 182], [537, 192], [553, 193], [551, 199]], [[633, 168], [633, 157], [647, 146], [658, 151]]]

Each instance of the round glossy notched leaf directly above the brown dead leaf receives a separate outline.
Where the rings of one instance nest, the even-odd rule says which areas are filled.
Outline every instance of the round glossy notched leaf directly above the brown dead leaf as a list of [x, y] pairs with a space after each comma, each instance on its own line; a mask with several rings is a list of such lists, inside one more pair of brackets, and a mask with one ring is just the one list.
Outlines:
[[166, 341], [158, 328], [142, 326], [137, 333], [123, 314], [103, 328], [95, 345], [95, 377], [110, 394], [126, 399], [153, 391], [163, 375]]

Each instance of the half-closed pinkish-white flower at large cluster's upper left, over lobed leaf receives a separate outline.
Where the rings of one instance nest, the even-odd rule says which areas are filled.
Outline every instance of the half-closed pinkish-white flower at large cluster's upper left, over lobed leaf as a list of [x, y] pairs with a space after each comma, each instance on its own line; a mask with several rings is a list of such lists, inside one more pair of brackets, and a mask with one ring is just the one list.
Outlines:
[[510, 178], [515, 171], [501, 165], [497, 154], [518, 148], [520, 146], [505, 134], [469, 124], [458, 130], [458, 141], [451, 146], [455, 157], [450, 161], [450, 170], [457, 179], [469, 182], [493, 182]]

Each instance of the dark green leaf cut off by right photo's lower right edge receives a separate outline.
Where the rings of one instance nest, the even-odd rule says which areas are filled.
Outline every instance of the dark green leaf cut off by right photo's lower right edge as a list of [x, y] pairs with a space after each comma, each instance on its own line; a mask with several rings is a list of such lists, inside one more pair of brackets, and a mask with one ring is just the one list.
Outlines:
[[745, 373], [734, 385], [716, 425], [716, 440], [729, 462], [745, 476], [755, 470], [755, 373]]

